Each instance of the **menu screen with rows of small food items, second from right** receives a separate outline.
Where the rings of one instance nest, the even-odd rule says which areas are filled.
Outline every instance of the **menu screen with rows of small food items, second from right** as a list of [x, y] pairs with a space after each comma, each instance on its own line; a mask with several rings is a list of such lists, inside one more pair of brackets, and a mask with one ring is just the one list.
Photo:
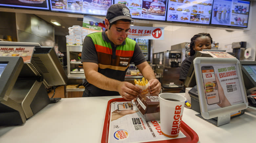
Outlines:
[[210, 24], [213, 0], [169, 0], [166, 21]]

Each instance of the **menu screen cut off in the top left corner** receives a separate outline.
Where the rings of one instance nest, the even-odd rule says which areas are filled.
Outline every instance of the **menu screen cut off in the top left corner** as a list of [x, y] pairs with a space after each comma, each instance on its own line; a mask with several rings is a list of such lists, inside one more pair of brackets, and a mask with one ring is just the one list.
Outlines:
[[0, 0], [0, 6], [49, 10], [48, 0]]

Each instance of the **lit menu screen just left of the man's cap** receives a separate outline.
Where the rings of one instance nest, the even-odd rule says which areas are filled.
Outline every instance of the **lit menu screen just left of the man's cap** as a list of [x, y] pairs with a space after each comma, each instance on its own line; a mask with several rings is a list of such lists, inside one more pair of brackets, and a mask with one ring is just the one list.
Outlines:
[[106, 16], [112, 0], [50, 0], [52, 11]]

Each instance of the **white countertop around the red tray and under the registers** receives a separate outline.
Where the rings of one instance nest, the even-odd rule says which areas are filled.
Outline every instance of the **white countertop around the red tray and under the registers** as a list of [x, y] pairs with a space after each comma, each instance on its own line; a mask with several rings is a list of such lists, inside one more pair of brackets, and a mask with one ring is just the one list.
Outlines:
[[[98, 143], [107, 102], [120, 97], [64, 98], [47, 105], [24, 125], [0, 127], [0, 143]], [[200, 143], [249, 143], [254, 140], [255, 109], [247, 108], [244, 115], [220, 127], [195, 114], [198, 113], [184, 108], [182, 120], [198, 134]]]

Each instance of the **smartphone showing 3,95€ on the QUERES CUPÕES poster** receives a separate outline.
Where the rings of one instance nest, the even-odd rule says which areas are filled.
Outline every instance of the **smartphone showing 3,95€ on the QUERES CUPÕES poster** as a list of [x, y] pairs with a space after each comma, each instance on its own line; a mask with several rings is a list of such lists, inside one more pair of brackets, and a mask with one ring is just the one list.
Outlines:
[[203, 83], [207, 104], [211, 105], [219, 103], [220, 97], [218, 93], [218, 87], [216, 85], [213, 66], [203, 66], [201, 69], [203, 74]]

